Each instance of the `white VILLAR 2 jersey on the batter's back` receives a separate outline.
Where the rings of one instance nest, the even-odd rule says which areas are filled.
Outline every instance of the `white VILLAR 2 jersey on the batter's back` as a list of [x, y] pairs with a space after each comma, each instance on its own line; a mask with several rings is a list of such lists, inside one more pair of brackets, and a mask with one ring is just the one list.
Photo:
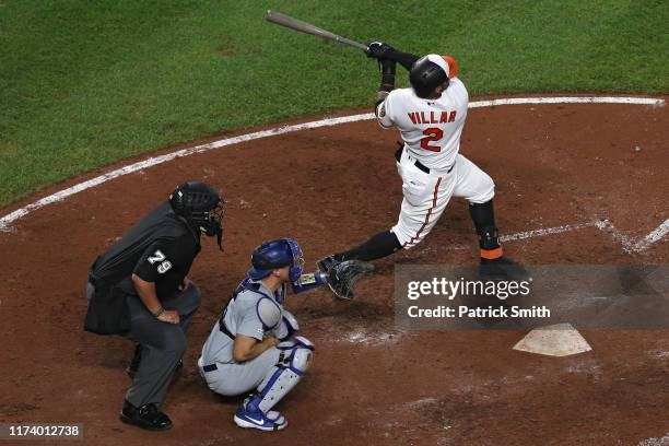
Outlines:
[[394, 90], [378, 105], [376, 116], [382, 127], [399, 128], [411, 156], [439, 171], [456, 161], [468, 104], [465, 84], [453, 78], [438, 99], [421, 98], [411, 87]]

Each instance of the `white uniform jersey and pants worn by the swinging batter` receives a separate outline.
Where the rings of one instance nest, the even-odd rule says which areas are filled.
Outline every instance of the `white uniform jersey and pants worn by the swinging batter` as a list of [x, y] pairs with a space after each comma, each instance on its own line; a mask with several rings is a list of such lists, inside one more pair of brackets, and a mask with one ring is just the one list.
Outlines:
[[424, 99], [413, 89], [399, 89], [376, 109], [382, 127], [397, 126], [404, 140], [403, 150], [396, 153], [404, 198], [391, 231], [406, 249], [425, 238], [451, 197], [484, 203], [495, 193], [492, 178], [459, 153], [469, 94], [456, 77], [457, 62], [445, 56], [424, 57], [453, 75], [442, 96]]

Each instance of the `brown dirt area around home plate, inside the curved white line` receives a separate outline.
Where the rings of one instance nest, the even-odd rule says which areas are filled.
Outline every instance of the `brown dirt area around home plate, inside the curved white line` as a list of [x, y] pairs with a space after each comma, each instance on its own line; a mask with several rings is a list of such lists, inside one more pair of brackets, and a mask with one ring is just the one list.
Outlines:
[[[313, 266], [391, 226], [397, 138], [360, 121], [239, 143], [115, 179], [0, 233], [0, 421], [82, 423], [86, 444], [126, 446], [637, 445], [669, 433], [669, 331], [584, 332], [591, 352], [555, 359], [513, 351], [519, 331], [394, 328], [396, 262], [474, 265], [458, 200], [423, 244], [379, 261], [355, 301], [289, 298], [316, 344], [307, 378], [279, 407], [291, 425], [234, 426], [239, 400], [210, 394], [196, 367], [222, 302], [261, 240], [295, 237]], [[610, 222], [509, 242], [512, 257], [666, 263], [666, 238], [630, 246], [669, 219], [667, 141], [668, 107], [513, 105], [470, 110], [461, 150], [495, 179], [503, 233]], [[132, 345], [82, 331], [83, 290], [96, 255], [186, 179], [228, 200], [225, 253], [208, 239], [196, 261], [203, 303], [164, 408], [175, 427], [152, 434], [118, 421]]]

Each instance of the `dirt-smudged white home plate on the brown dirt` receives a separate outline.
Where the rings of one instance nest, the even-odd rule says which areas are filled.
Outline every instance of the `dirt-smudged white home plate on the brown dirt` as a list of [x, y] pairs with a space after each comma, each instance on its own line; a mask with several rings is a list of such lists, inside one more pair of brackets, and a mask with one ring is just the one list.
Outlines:
[[514, 350], [549, 356], [568, 356], [588, 352], [592, 348], [571, 324], [556, 324], [530, 331], [514, 345]]

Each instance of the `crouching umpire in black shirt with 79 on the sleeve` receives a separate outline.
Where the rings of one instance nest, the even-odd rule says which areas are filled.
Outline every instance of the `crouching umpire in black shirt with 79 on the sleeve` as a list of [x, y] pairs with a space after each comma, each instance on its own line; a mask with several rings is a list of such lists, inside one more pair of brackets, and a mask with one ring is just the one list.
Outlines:
[[125, 423], [150, 431], [172, 427], [160, 409], [200, 305], [187, 274], [201, 234], [215, 235], [221, 248], [224, 203], [207, 184], [183, 184], [91, 266], [84, 329], [138, 343], [120, 412]]

